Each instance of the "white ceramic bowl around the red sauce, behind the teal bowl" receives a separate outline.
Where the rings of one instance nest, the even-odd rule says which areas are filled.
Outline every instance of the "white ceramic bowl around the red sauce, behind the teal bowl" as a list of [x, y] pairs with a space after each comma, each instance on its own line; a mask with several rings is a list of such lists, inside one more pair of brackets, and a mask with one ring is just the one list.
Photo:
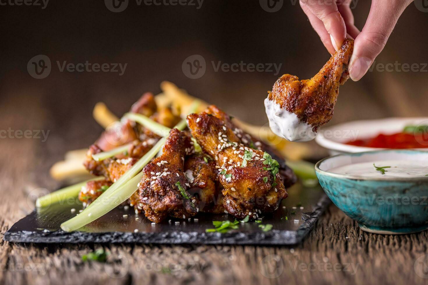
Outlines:
[[[331, 155], [382, 150], [381, 148], [358, 147], [345, 143], [351, 140], [373, 138], [380, 133], [391, 135], [402, 132], [404, 127], [409, 125], [428, 125], [428, 117], [351, 121], [325, 129], [321, 128], [318, 130], [315, 141], [321, 147], [327, 148]], [[428, 148], [419, 148], [418, 150], [428, 151]]]

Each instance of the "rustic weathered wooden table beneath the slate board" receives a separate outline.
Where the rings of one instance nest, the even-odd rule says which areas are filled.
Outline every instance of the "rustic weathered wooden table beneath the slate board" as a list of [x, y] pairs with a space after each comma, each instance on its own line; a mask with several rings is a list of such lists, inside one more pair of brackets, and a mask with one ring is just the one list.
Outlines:
[[[53, 120], [52, 104], [40, 102], [36, 96], [13, 95], [16, 94], [9, 92], [0, 105], [4, 126], [15, 130], [46, 127], [52, 133], [49, 143], [37, 138], [1, 139], [2, 235], [31, 211], [32, 204], [27, 201], [31, 191], [56, 187], [48, 176], [48, 167], [61, 159], [65, 150], [82, 147], [97, 136], [89, 131], [96, 128], [94, 123], [81, 124], [84, 118], [79, 119], [70, 110], [63, 113], [68, 118]], [[427, 279], [418, 276], [414, 266], [416, 259], [428, 254], [427, 237], [426, 231], [411, 235], [369, 234], [330, 206], [306, 240], [295, 247], [2, 241], [0, 283], [426, 284]], [[110, 264], [81, 260], [83, 254], [98, 248], [125, 260], [125, 267], [116, 268], [121, 278], [110, 278]]]

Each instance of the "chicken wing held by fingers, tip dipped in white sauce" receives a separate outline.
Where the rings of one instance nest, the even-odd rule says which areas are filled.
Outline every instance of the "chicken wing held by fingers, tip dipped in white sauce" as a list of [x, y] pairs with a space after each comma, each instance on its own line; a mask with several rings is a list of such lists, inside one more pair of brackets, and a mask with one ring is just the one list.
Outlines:
[[284, 74], [265, 99], [270, 129], [289, 141], [315, 138], [319, 126], [333, 117], [339, 85], [349, 78], [348, 63], [354, 40], [345, 39], [342, 47], [311, 79], [299, 80]]

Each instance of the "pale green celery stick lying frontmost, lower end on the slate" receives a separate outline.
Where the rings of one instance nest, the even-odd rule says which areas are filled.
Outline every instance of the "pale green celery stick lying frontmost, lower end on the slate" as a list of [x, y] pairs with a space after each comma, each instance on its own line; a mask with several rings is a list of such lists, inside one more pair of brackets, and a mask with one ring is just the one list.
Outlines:
[[121, 203], [128, 200], [129, 197], [137, 191], [137, 184], [140, 182], [143, 175], [144, 173], [142, 171], [129, 180], [125, 185], [117, 189], [113, 194], [104, 198], [101, 198], [101, 196], [98, 197], [98, 199], [91, 203], [91, 205], [94, 205], [93, 207], [86, 208], [79, 215], [62, 223], [61, 229], [65, 232], [72, 232], [107, 214]]

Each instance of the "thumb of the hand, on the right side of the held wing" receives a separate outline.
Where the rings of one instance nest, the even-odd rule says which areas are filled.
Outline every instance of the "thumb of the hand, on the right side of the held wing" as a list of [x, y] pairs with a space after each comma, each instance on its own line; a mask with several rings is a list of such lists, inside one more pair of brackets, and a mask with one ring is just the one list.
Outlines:
[[410, 0], [372, 1], [369, 17], [363, 30], [355, 38], [354, 52], [349, 61], [349, 76], [352, 80], [358, 81], [367, 73], [376, 56], [385, 47], [401, 13], [411, 2]]

